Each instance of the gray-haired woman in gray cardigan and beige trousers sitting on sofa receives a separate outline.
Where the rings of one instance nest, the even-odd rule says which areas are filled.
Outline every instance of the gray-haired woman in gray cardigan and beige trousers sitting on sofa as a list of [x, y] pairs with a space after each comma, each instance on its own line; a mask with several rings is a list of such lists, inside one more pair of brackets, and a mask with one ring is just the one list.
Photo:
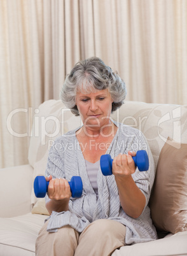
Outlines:
[[[74, 66], [60, 96], [83, 125], [57, 138], [50, 149], [46, 208], [51, 215], [39, 232], [36, 255], [105, 256], [156, 239], [148, 207], [155, 177], [148, 143], [140, 131], [110, 117], [125, 99], [123, 80], [92, 57]], [[135, 168], [137, 145], [148, 152], [148, 171]], [[106, 153], [114, 158], [111, 176], [100, 170]], [[80, 198], [71, 197], [72, 176], [82, 178]]]

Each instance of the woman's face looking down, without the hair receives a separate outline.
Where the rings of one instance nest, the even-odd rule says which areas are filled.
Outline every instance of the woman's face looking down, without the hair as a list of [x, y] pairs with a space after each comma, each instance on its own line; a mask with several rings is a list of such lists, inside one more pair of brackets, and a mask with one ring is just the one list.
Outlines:
[[102, 125], [109, 123], [113, 99], [107, 89], [90, 94], [77, 92], [76, 106], [84, 125]]

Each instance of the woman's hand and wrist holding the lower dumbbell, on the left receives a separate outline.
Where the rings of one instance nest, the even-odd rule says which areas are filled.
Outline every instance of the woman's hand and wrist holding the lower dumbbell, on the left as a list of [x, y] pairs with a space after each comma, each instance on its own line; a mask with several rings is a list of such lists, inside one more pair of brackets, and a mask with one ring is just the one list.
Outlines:
[[46, 177], [46, 181], [50, 181], [48, 185], [48, 197], [51, 199], [50, 206], [53, 206], [52, 208], [50, 207], [51, 209], [48, 209], [48, 211], [68, 210], [69, 199], [71, 197], [68, 181], [64, 178], [52, 180], [51, 175]]

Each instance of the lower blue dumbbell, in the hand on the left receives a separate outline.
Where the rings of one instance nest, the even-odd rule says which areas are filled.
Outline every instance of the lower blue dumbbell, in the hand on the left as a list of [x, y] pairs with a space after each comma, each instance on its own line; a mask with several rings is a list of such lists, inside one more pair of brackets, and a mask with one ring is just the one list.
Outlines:
[[[49, 181], [46, 181], [45, 176], [36, 176], [34, 180], [34, 194], [36, 197], [45, 197], [48, 192]], [[81, 197], [83, 192], [83, 182], [80, 176], [73, 176], [68, 182], [71, 189], [72, 197]]]

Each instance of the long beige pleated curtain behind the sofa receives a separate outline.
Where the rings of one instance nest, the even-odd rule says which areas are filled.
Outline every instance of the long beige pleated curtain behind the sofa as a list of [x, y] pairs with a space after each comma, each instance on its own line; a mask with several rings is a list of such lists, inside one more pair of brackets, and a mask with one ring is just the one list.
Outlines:
[[34, 113], [97, 56], [127, 100], [187, 102], [186, 0], [0, 0], [0, 165], [27, 164]]

